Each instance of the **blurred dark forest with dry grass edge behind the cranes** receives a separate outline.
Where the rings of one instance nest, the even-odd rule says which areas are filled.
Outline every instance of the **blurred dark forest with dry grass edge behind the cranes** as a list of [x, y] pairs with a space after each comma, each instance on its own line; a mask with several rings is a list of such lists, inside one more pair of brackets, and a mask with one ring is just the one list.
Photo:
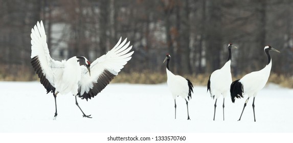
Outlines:
[[263, 68], [271, 53], [270, 82], [293, 88], [293, 1], [290, 0], [0, 0], [0, 81], [33, 81], [30, 33], [45, 25], [55, 60], [104, 55], [122, 36], [133, 45], [132, 59], [114, 82], [166, 82], [170, 68], [206, 85], [227, 61], [232, 42], [233, 80]]

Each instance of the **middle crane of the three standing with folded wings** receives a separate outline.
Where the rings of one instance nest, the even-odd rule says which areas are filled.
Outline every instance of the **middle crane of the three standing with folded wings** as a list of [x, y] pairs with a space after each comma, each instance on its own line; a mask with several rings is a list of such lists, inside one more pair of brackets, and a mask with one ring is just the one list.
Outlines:
[[208, 81], [208, 89], [207, 91], [210, 91], [211, 97], [213, 99], [216, 98], [215, 101], [215, 109], [214, 109], [214, 121], [215, 121], [215, 115], [216, 115], [216, 107], [217, 107], [217, 100], [220, 97], [223, 97], [223, 120], [225, 120], [224, 116], [224, 103], [225, 103], [225, 98], [229, 94], [230, 90], [230, 85], [232, 83], [232, 76], [231, 76], [231, 59], [232, 59], [232, 53], [231, 49], [237, 47], [233, 45], [232, 43], [228, 44], [228, 51], [229, 51], [229, 57], [227, 62], [223, 65], [222, 68], [215, 70]]

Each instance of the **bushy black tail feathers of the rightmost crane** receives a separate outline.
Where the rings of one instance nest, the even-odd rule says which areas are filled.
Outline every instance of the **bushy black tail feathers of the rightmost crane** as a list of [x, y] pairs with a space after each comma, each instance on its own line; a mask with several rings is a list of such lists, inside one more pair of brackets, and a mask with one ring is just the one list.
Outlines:
[[230, 87], [231, 100], [234, 103], [235, 98], [243, 98], [243, 85], [239, 80], [232, 82]]

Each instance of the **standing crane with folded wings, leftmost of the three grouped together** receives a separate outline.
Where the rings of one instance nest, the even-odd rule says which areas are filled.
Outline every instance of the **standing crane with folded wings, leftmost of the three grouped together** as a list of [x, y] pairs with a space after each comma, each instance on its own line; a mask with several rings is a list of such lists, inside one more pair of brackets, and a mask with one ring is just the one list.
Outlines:
[[[190, 80], [183, 78], [182, 76], [174, 75], [169, 69], [169, 62], [171, 56], [169, 54], [166, 55], [165, 61], [167, 61], [166, 72], [167, 72], [167, 84], [172, 93], [172, 97], [175, 103], [175, 119], [176, 119], [176, 98], [182, 97], [186, 101], [187, 106], [187, 120], [190, 120], [189, 112], [188, 112], [188, 101], [191, 99], [191, 92], [193, 93], [193, 85]], [[188, 100], [188, 101], [187, 101]]]

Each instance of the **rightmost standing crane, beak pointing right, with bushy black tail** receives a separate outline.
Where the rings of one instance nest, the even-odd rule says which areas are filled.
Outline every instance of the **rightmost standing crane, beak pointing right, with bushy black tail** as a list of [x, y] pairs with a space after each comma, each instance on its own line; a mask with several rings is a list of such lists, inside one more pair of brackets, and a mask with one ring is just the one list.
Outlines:
[[231, 84], [230, 92], [231, 92], [231, 99], [233, 103], [235, 102], [235, 98], [243, 98], [243, 95], [245, 94], [248, 97], [244, 103], [244, 107], [238, 121], [241, 120], [242, 113], [244, 111], [244, 108], [248, 100], [251, 97], [253, 97], [252, 107], [253, 107], [254, 122], [256, 122], [255, 111], [254, 111], [254, 107], [255, 107], [254, 100], [255, 100], [255, 97], [257, 96], [258, 91], [261, 90], [265, 86], [269, 77], [269, 73], [271, 72], [272, 58], [271, 58], [271, 55], [269, 55], [269, 51], [271, 50], [280, 53], [278, 50], [274, 49], [270, 45], [265, 46], [264, 53], [267, 56], [266, 66], [259, 71], [253, 71], [252, 73], [245, 75], [240, 80], [236, 80]]

